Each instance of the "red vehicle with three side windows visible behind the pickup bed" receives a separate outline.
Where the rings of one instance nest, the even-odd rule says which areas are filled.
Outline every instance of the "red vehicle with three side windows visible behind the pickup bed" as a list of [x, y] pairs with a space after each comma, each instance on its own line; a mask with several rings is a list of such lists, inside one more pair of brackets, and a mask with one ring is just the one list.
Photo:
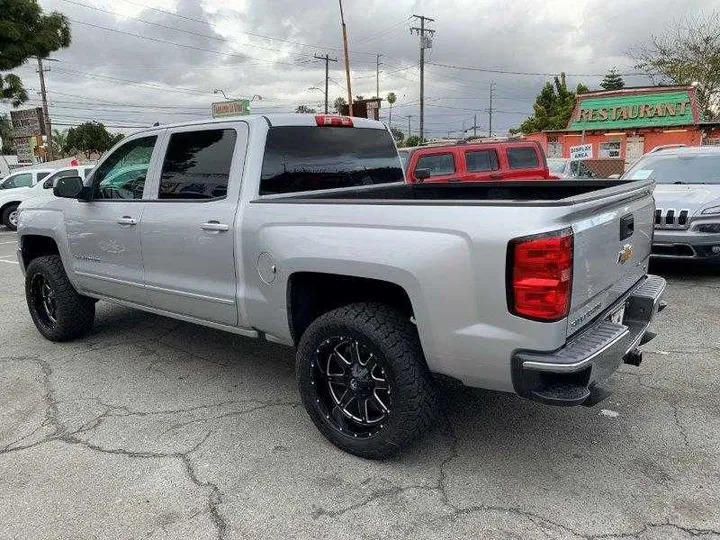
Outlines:
[[411, 184], [554, 178], [536, 141], [459, 142], [398, 152]]

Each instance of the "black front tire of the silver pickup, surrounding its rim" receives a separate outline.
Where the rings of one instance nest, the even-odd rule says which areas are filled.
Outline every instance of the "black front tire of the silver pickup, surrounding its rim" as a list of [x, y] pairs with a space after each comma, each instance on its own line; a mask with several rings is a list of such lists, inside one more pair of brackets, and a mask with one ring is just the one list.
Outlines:
[[[33, 298], [33, 280], [44, 278], [54, 292], [55, 323], [48, 322]], [[50, 341], [70, 341], [84, 336], [95, 321], [95, 301], [78, 294], [68, 280], [59, 255], [33, 259], [25, 272], [25, 298], [38, 331]]]

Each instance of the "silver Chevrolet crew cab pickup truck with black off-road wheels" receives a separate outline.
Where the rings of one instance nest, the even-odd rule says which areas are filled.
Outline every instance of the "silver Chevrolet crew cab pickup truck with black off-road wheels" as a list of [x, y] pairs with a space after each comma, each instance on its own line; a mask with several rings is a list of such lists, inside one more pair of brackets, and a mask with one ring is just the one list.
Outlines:
[[651, 181], [406, 184], [389, 131], [340, 116], [158, 126], [19, 215], [27, 304], [54, 341], [95, 301], [296, 347], [338, 447], [397, 451], [436, 376], [591, 404], [662, 309]]

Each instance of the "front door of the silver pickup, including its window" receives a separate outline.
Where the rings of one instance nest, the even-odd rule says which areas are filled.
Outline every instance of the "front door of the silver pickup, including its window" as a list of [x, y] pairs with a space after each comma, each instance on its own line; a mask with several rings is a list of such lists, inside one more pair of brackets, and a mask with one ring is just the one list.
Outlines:
[[70, 264], [81, 289], [147, 303], [140, 221], [146, 206], [145, 179], [158, 158], [158, 139], [159, 135], [131, 137], [104, 159], [91, 176], [91, 201], [55, 201], [65, 215]]

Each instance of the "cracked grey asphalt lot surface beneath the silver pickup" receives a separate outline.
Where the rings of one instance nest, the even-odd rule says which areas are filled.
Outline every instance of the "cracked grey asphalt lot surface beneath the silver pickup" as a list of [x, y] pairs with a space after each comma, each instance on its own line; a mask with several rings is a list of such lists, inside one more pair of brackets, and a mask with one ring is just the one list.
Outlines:
[[299, 403], [293, 352], [98, 304], [35, 330], [0, 231], [0, 538], [720, 538], [720, 267], [655, 265], [670, 305], [595, 408], [443, 388], [408, 453], [364, 461]]

